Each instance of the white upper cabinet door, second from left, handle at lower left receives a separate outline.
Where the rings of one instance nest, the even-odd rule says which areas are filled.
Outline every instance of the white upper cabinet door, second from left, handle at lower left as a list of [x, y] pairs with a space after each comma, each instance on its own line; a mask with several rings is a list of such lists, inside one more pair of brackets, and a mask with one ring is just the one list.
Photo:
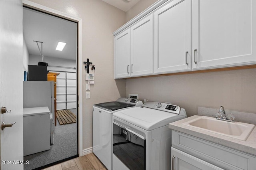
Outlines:
[[153, 14], [131, 27], [132, 76], [153, 73], [154, 22]]

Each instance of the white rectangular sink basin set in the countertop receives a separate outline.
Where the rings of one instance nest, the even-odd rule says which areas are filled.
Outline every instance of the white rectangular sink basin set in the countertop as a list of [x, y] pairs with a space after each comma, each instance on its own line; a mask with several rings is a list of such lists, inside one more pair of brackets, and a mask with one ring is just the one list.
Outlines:
[[182, 123], [182, 125], [206, 130], [208, 132], [213, 132], [224, 136], [229, 136], [243, 141], [248, 138], [255, 126], [242, 122], [221, 121], [215, 119], [214, 117], [206, 116], [198, 117], [191, 121]]

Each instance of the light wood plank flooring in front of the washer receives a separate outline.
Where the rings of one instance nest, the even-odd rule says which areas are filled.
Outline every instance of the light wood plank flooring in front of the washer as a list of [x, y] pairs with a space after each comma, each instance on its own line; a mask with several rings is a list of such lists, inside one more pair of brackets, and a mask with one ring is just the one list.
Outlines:
[[105, 166], [93, 154], [77, 157], [43, 170], [106, 170]]

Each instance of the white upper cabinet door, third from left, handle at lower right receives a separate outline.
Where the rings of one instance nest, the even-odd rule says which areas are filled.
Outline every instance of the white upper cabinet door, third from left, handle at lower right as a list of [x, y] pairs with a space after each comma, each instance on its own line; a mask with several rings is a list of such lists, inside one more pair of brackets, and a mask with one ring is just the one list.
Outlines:
[[154, 13], [154, 72], [191, 69], [191, 1], [173, 0]]

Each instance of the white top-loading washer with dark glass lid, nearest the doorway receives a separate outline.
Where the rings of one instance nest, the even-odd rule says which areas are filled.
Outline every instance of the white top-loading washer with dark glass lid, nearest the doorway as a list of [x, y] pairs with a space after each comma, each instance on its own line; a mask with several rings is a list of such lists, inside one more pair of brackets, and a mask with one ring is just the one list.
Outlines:
[[119, 98], [93, 106], [93, 153], [108, 170], [112, 170], [112, 114], [141, 105], [142, 101], [137, 99]]

